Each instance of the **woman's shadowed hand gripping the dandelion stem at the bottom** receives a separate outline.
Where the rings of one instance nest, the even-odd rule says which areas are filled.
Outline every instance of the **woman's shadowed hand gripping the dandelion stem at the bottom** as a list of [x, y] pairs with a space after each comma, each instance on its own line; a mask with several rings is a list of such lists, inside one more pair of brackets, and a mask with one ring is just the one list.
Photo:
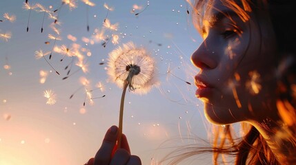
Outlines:
[[130, 155], [126, 135], [122, 135], [121, 148], [117, 149], [117, 130], [117, 126], [108, 129], [95, 158], [89, 159], [85, 165], [141, 165], [139, 157]]

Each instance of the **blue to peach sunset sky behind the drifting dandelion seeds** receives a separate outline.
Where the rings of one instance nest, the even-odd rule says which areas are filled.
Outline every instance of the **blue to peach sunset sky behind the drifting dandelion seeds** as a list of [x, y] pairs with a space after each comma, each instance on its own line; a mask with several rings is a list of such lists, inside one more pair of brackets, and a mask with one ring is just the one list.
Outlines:
[[[195, 98], [199, 69], [190, 63], [201, 38], [186, 1], [28, 0], [40, 4], [32, 10], [24, 2], [0, 1], [1, 165], [79, 165], [93, 157], [119, 119], [122, 89], [107, 74], [109, 54], [128, 42], [155, 59], [160, 83], [145, 95], [126, 94], [123, 131], [132, 154], [157, 164], [174, 147], [207, 139]], [[69, 55], [75, 51], [80, 58]]]

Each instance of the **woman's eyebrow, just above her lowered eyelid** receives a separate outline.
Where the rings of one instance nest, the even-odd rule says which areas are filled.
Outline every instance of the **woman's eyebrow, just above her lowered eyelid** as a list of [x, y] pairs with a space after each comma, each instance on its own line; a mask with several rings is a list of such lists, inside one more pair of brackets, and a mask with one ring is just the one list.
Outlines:
[[219, 23], [221, 20], [228, 18], [231, 19], [231, 17], [238, 17], [237, 13], [233, 10], [221, 10], [218, 12], [215, 12], [209, 19], [210, 27], [215, 26], [217, 23]]

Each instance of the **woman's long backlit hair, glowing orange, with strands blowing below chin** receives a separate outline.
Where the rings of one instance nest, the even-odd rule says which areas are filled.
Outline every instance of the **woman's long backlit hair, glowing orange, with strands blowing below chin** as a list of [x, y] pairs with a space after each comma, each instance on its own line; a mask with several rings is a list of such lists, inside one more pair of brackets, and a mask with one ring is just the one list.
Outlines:
[[[188, 0], [189, 1], [189, 0]], [[296, 132], [296, 17], [293, 14], [294, 0], [220, 0], [224, 5], [237, 13], [242, 21], [250, 19], [250, 12], [266, 10], [273, 25], [277, 42], [275, 58], [277, 62], [277, 109], [282, 119], [283, 131], [275, 133], [277, 136], [285, 135], [287, 140], [296, 144], [293, 133]], [[189, 2], [190, 3], [190, 2]], [[193, 23], [195, 28], [202, 33], [201, 27], [204, 17], [207, 17], [208, 9], [213, 8], [213, 0], [197, 0], [193, 6]], [[235, 157], [235, 164], [281, 164], [275, 158], [259, 131], [246, 122], [241, 123], [243, 135], [236, 137], [233, 133], [233, 124], [226, 126], [213, 125], [213, 141], [210, 147], [186, 146], [177, 148], [164, 162], [179, 164], [188, 157], [202, 153], [213, 153], [214, 164], [227, 163], [224, 155]], [[288, 153], [288, 152], [287, 152]], [[295, 155], [287, 155], [295, 159]]]

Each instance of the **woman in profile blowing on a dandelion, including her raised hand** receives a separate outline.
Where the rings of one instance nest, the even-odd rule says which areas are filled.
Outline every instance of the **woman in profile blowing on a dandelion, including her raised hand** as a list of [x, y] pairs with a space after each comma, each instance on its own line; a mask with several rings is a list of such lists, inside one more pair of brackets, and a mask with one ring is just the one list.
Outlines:
[[[296, 162], [296, 20], [293, 0], [201, 0], [193, 21], [204, 39], [191, 58], [200, 72], [196, 96], [214, 124], [212, 147], [175, 153], [177, 164], [193, 153], [233, 155], [233, 164], [295, 164]], [[231, 124], [249, 128], [234, 138]], [[123, 148], [113, 155], [117, 127], [106, 133], [95, 159], [88, 164], [141, 164]], [[218, 138], [219, 137], [219, 138]], [[177, 150], [178, 151], [178, 150]], [[176, 152], [177, 152], [176, 151]], [[112, 155], [112, 156], [111, 156]], [[95, 160], [95, 162], [94, 162]]]

